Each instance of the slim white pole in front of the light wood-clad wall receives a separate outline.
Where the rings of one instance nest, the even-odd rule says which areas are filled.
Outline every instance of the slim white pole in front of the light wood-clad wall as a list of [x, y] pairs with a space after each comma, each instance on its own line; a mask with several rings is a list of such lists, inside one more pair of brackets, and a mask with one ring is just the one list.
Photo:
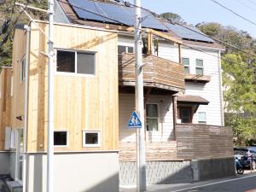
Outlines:
[[48, 146], [47, 146], [47, 192], [53, 192], [54, 173], [54, 47], [53, 47], [53, 16], [54, 0], [48, 1], [49, 41], [48, 41]]

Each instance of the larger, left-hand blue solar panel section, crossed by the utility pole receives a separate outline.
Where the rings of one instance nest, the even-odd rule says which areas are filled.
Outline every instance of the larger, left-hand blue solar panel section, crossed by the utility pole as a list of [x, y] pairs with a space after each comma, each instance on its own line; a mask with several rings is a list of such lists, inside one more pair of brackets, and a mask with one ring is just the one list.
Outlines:
[[[125, 7], [122, 5], [94, 2], [90, 0], [68, 0], [68, 2], [71, 3], [74, 11], [79, 16], [79, 19], [96, 20], [113, 24], [119, 24], [119, 22], [121, 22], [126, 26], [134, 26], [134, 7]], [[148, 11], [142, 9], [142, 17], [143, 27], [167, 31], [166, 26]]]

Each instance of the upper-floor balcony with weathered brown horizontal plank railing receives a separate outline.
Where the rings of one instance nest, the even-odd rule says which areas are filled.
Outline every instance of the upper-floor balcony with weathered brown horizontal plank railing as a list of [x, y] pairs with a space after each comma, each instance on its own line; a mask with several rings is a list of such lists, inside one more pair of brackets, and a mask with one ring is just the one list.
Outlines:
[[[144, 87], [184, 90], [183, 65], [155, 55], [143, 55]], [[119, 55], [119, 86], [135, 86], [135, 55]]]

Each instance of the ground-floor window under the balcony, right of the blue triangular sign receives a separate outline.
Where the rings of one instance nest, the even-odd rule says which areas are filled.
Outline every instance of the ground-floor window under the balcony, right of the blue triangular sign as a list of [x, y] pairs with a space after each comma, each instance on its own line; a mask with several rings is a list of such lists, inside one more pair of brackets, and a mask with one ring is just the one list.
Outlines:
[[159, 119], [158, 105], [147, 104], [146, 115], [147, 115], [147, 131], [158, 131], [158, 119]]

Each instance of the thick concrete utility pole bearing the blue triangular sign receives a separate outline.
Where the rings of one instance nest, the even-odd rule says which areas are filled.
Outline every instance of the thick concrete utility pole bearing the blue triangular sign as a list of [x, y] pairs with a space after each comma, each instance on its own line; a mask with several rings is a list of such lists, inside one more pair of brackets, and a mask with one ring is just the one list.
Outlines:
[[146, 155], [145, 155], [145, 123], [144, 123], [144, 96], [143, 96], [143, 55], [142, 55], [142, 17], [141, 1], [135, 0], [135, 72], [136, 72], [136, 110], [142, 122], [142, 128], [137, 129], [137, 192], [146, 190]]

